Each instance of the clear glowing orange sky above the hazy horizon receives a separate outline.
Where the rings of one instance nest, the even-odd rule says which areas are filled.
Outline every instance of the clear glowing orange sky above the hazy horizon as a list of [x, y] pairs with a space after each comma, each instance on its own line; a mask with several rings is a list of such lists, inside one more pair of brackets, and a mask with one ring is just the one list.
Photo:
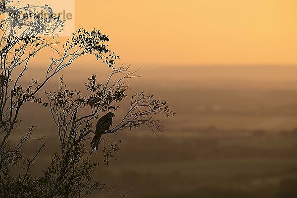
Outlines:
[[76, 0], [75, 24], [109, 35], [119, 64], [297, 65], [296, 8], [297, 0]]

